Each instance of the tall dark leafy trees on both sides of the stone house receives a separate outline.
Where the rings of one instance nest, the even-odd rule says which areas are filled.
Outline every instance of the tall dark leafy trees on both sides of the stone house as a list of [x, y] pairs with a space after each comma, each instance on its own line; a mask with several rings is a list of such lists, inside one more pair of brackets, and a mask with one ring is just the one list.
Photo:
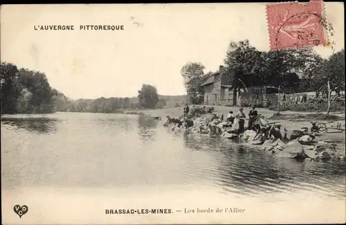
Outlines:
[[[198, 62], [189, 62], [181, 69], [192, 103], [203, 101], [201, 84], [212, 75], [204, 69]], [[221, 73], [235, 89], [280, 86], [285, 93], [315, 91], [319, 96], [327, 90], [329, 81], [331, 90], [340, 93], [345, 90], [345, 49], [323, 59], [309, 47], [265, 52], [251, 46], [247, 39], [230, 42]]]

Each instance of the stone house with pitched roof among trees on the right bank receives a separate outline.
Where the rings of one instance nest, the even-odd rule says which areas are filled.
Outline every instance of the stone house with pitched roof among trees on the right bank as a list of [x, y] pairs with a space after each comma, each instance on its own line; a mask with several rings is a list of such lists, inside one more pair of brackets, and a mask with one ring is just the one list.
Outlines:
[[201, 84], [204, 89], [204, 105], [240, 105], [237, 92], [227, 83], [222, 76], [224, 67], [220, 66], [219, 71], [212, 74], [208, 80]]

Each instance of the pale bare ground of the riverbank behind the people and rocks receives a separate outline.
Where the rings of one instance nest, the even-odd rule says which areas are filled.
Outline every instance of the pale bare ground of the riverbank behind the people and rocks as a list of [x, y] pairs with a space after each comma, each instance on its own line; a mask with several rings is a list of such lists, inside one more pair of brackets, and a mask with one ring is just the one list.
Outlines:
[[[192, 108], [193, 106], [191, 106]], [[198, 106], [203, 107], [203, 106]], [[206, 106], [208, 107], [208, 106]], [[223, 106], [212, 106], [214, 111], [212, 114], [224, 114], [225, 118], [229, 111], [233, 111], [234, 114], [237, 114], [239, 111], [238, 107], [223, 107]], [[247, 115], [251, 108], [245, 107], [244, 113]], [[258, 114], [265, 116], [269, 123], [279, 123], [284, 127], [287, 132], [287, 137], [291, 136], [294, 130], [300, 130], [302, 127], [308, 127], [310, 129], [311, 122], [316, 123], [326, 123], [327, 127], [335, 126], [337, 123], [341, 123], [343, 129], [345, 129], [345, 113], [343, 112], [334, 112], [330, 115], [326, 114], [315, 114], [312, 112], [293, 112], [293, 111], [283, 111], [280, 112], [280, 115], [276, 115], [277, 111], [271, 111], [268, 109], [257, 109]], [[145, 110], [142, 111], [147, 116], [161, 116], [163, 122], [165, 122], [165, 117], [168, 115], [171, 118], [179, 118], [183, 115], [183, 107], [176, 107], [171, 109], [154, 109], [154, 110]], [[198, 122], [201, 120], [201, 117], [207, 118], [210, 120], [212, 114], [203, 114], [199, 118], [194, 118], [194, 121]], [[248, 119], [246, 120], [246, 125]], [[321, 132], [316, 135], [313, 139], [313, 143], [316, 145], [325, 145], [329, 143], [333, 145], [336, 151], [336, 156], [338, 160], [345, 161], [345, 132], [338, 131], [337, 129], [328, 129], [327, 132]], [[312, 145], [309, 145], [311, 148]], [[306, 147], [306, 146], [304, 146]], [[316, 147], [316, 146], [314, 146]], [[317, 146], [318, 147], [318, 146]], [[313, 156], [311, 156], [313, 158]]]

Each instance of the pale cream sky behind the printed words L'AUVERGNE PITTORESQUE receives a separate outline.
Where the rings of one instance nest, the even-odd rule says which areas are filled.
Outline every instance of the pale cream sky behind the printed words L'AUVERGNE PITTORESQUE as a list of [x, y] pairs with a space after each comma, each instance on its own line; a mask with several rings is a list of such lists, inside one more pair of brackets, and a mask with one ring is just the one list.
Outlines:
[[[343, 3], [325, 3], [336, 51], [344, 48]], [[137, 96], [142, 84], [161, 95], [186, 94], [181, 67], [223, 64], [228, 45], [249, 39], [269, 50], [265, 3], [2, 5], [1, 62], [44, 72], [69, 98]], [[75, 30], [35, 30], [73, 25]], [[80, 30], [80, 25], [124, 30]], [[322, 57], [331, 48], [318, 46]]]

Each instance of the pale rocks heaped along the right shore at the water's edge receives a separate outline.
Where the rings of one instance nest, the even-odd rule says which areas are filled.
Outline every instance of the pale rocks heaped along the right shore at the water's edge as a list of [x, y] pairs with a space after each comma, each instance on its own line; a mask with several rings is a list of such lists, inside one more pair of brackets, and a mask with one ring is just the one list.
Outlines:
[[289, 141], [276, 139], [266, 140], [263, 143], [253, 140], [256, 136], [256, 132], [253, 130], [246, 130], [244, 133], [238, 134], [236, 127], [223, 120], [223, 115], [211, 114], [210, 112], [212, 112], [212, 107], [207, 109], [197, 107], [194, 109], [194, 114], [190, 116], [192, 117], [190, 120], [193, 121], [192, 127], [185, 128], [184, 125], [179, 126], [173, 123], [168, 124], [167, 127], [174, 132], [188, 131], [197, 134], [217, 135], [241, 143], [261, 145], [260, 150], [282, 158], [345, 161], [345, 152], [338, 152], [336, 143], [314, 141], [315, 137], [321, 134], [308, 134], [305, 127], [302, 130], [294, 130]]

